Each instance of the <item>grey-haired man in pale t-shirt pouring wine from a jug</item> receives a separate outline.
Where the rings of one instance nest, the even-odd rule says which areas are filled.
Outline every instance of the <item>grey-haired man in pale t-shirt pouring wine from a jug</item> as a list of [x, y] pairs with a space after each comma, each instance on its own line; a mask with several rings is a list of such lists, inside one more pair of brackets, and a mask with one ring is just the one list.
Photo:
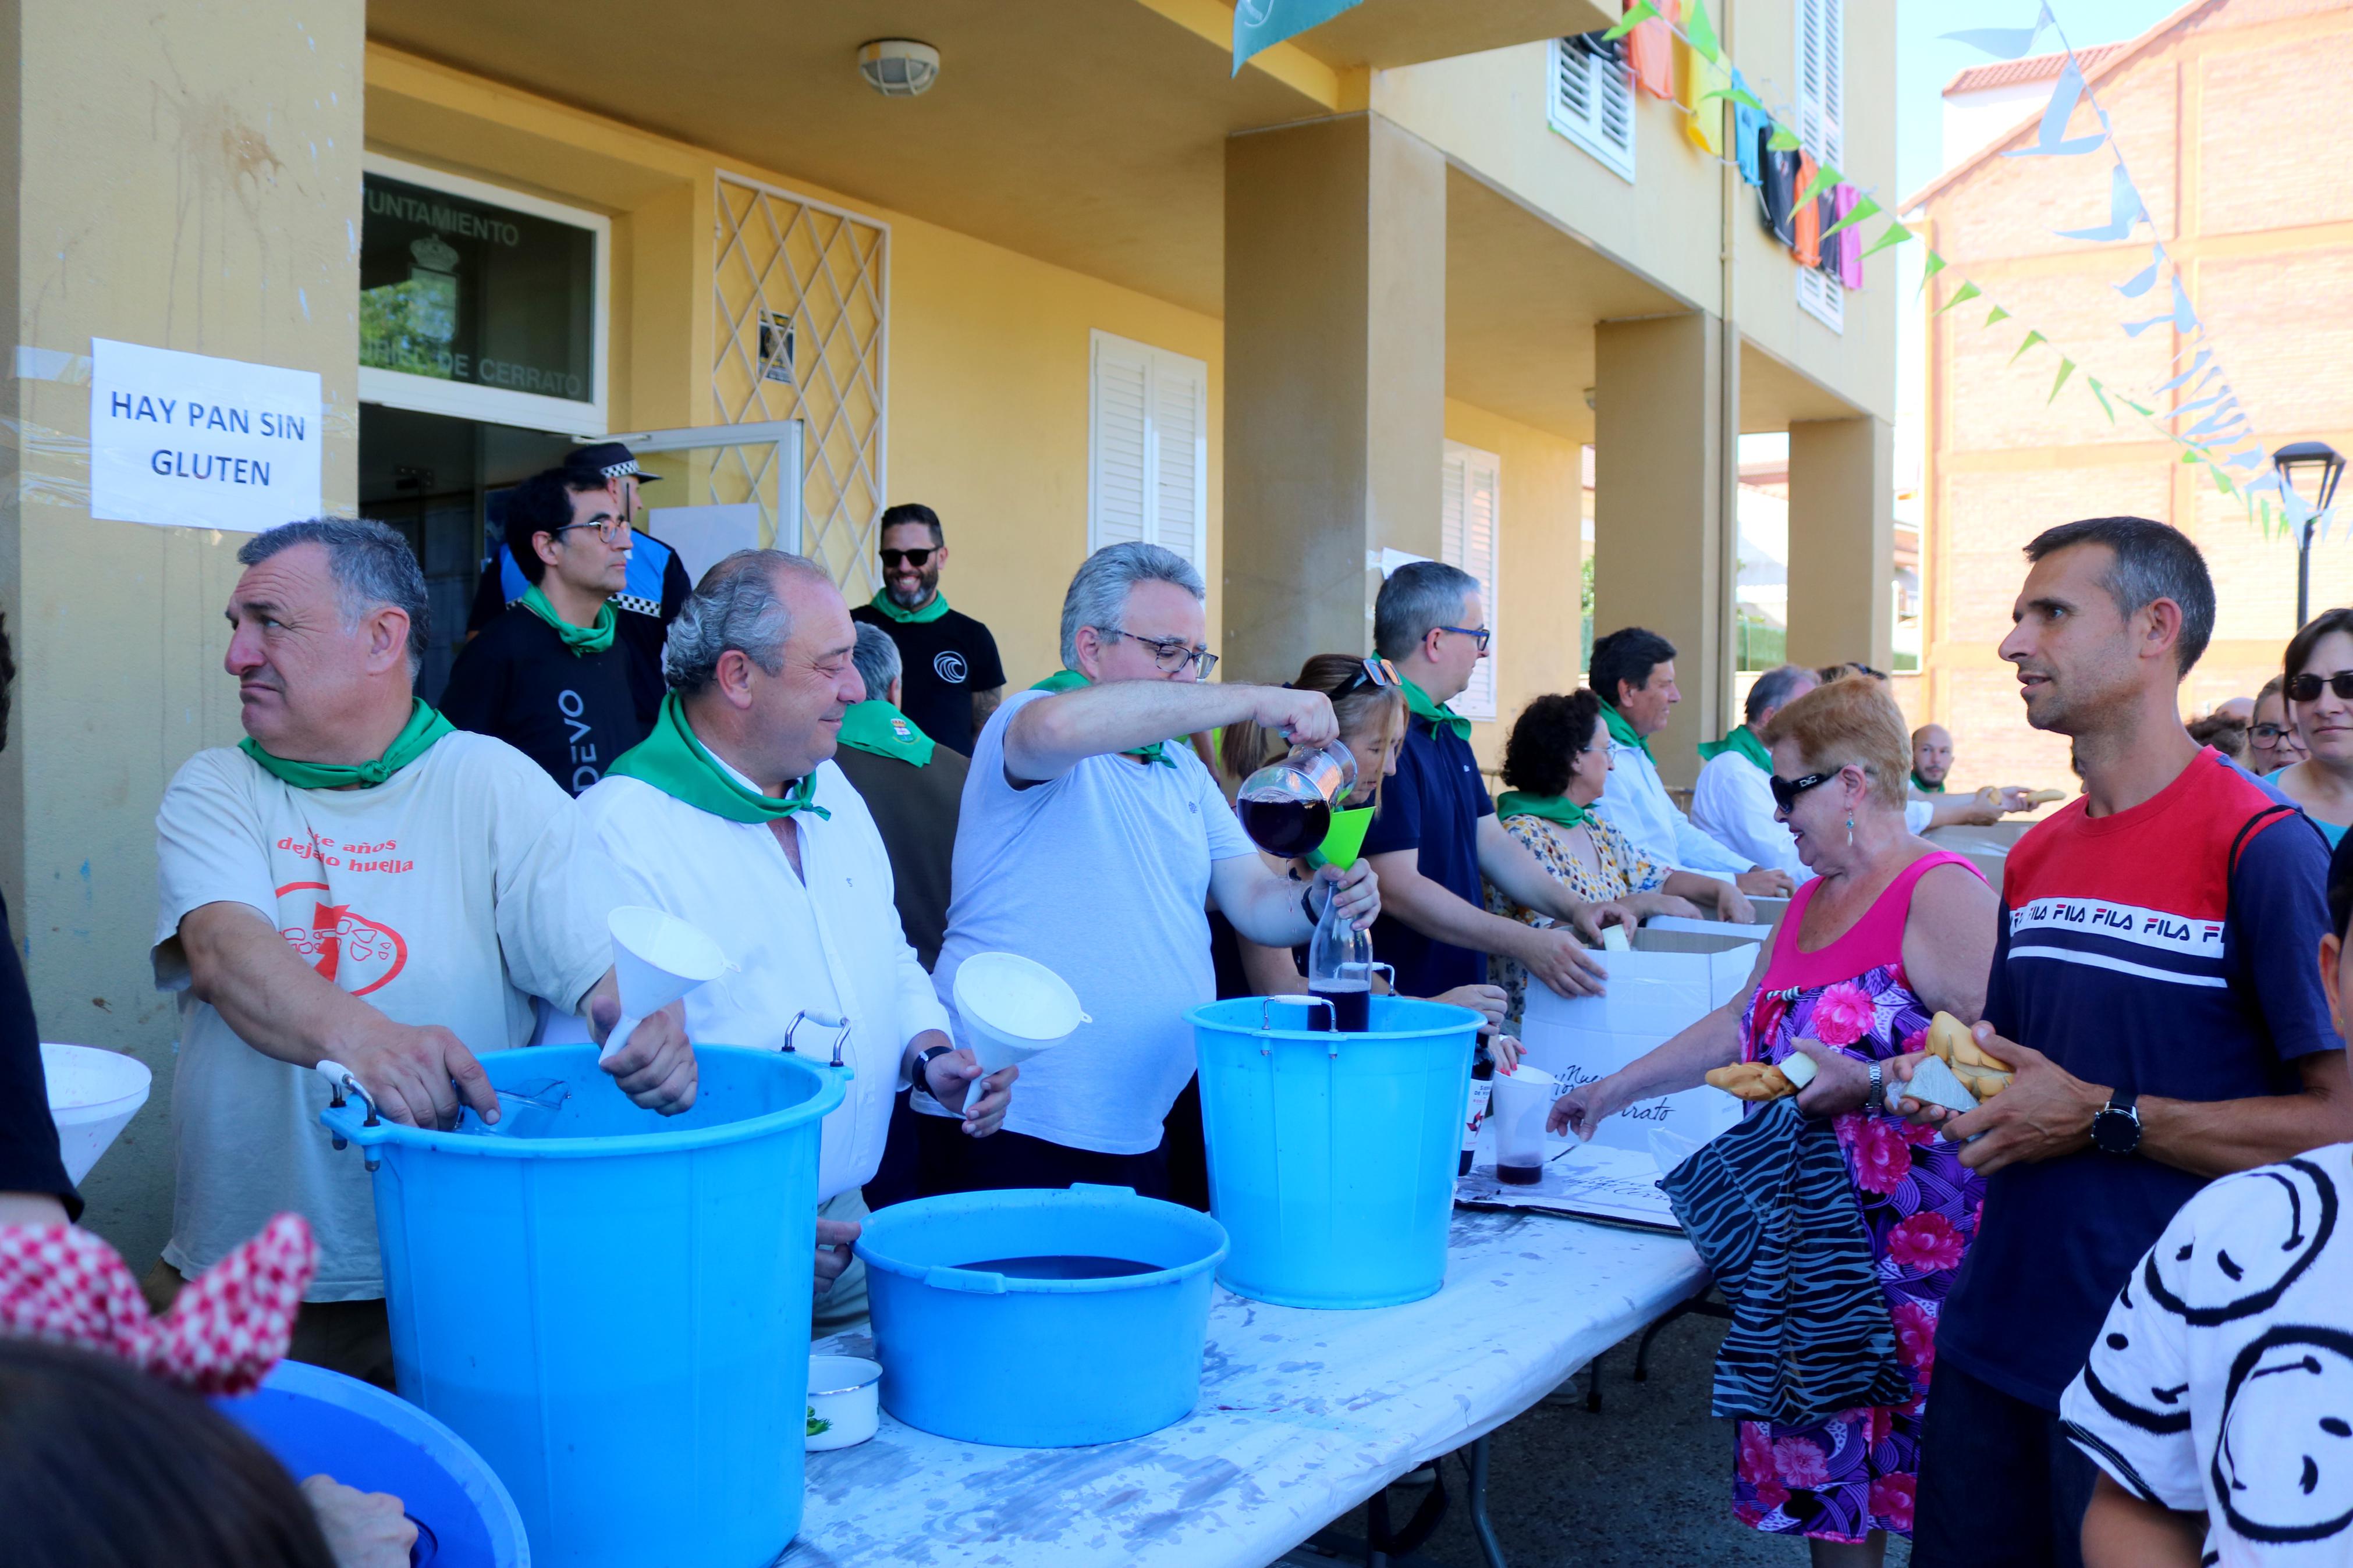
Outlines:
[[[955, 830], [955, 896], [934, 980], [1019, 952], [1078, 992], [1092, 1023], [1021, 1067], [1005, 1131], [958, 1138], [936, 1105], [920, 1126], [922, 1192], [1106, 1182], [1167, 1192], [1160, 1124], [1193, 1077], [1186, 1009], [1217, 997], [1207, 900], [1249, 940], [1294, 947], [1327, 898], [1379, 914], [1362, 863], [1313, 884], [1271, 872], [1184, 736], [1254, 719], [1320, 745], [1339, 733], [1320, 691], [1205, 684], [1207, 590], [1160, 545], [1106, 545], [1061, 602], [1064, 670], [981, 729]], [[960, 1025], [962, 1027], [962, 1025]]]

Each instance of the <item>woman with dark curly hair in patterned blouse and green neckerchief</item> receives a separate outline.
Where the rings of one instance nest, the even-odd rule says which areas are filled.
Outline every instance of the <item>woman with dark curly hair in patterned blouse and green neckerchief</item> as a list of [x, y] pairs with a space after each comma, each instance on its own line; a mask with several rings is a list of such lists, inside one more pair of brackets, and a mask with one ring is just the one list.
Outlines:
[[[1504, 832], [1527, 844], [1544, 870], [1586, 903], [1624, 900], [1642, 919], [1699, 914], [1699, 905], [1715, 919], [1753, 919], [1748, 898], [1729, 882], [1657, 865], [1633, 839], [1593, 816], [1593, 802], [1609, 783], [1609, 731], [1602, 729], [1602, 701], [1591, 691], [1539, 696], [1520, 712], [1504, 743], [1504, 783], [1511, 790], [1494, 802]], [[1487, 910], [1529, 926], [1553, 924], [1492, 882]], [[1518, 959], [1492, 954], [1487, 978], [1504, 987], [1504, 1016], [1518, 1027], [1527, 971]]]

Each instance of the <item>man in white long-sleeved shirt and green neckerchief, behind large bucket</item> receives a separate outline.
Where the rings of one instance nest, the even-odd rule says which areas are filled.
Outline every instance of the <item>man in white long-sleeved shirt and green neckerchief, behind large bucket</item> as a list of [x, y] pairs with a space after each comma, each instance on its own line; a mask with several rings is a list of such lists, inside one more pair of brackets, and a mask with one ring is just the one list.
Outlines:
[[948, 1039], [899, 926], [882, 835], [831, 762], [842, 712], [866, 696], [854, 649], [849, 607], [816, 562], [729, 555], [671, 623], [654, 731], [581, 795], [624, 896], [727, 950], [727, 973], [687, 997], [694, 1039], [819, 1060], [840, 1044], [852, 1077], [816, 1171], [826, 1331], [864, 1316], [864, 1269], [845, 1267], [894, 1095], [920, 1079], [984, 1135], [1019, 1072], [967, 1105], [979, 1065]]

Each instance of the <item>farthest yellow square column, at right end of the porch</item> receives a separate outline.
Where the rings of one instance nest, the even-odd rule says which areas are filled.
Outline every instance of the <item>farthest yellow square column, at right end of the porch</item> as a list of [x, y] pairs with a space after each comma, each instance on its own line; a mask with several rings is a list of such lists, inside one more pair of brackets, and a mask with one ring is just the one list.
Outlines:
[[1894, 635], [1894, 430], [1882, 418], [1788, 428], [1788, 656], [1885, 670]]

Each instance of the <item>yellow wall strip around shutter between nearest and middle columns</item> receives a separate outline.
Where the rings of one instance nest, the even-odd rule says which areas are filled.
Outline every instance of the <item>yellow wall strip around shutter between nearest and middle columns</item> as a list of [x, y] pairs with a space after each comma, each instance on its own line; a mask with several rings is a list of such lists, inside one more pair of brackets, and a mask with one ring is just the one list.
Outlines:
[[1447, 440], [1501, 458], [1501, 583], [1499, 604], [1487, 611], [1497, 628], [1497, 717], [1471, 724], [1471, 750], [1494, 771], [1520, 710], [1546, 691], [1577, 689], [1584, 451], [1454, 397], [1447, 397]]

